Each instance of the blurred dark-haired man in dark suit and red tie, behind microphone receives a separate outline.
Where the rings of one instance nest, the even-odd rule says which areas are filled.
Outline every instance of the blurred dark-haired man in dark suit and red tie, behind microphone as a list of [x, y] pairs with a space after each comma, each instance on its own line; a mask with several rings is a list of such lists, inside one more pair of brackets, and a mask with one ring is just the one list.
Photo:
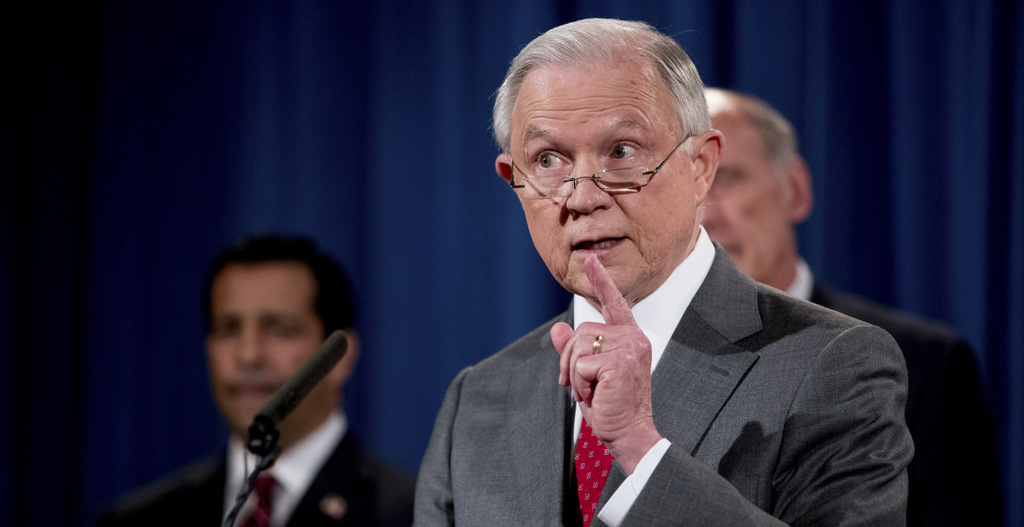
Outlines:
[[132, 492], [99, 525], [221, 525], [254, 464], [244, 446], [253, 416], [335, 330], [348, 351], [279, 425], [282, 454], [238, 525], [410, 525], [415, 480], [348, 433], [341, 389], [359, 350], [342, 270], [305, 238], [257, 236], [217, 257], [206, 286], [207, 361], [230, 429], [226, 454]]

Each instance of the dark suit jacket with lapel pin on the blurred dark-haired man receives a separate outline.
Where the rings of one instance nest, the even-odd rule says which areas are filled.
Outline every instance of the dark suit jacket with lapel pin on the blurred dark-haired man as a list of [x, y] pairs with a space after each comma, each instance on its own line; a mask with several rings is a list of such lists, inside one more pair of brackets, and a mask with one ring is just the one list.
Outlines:
[[[186, 467], [130, 493], [96, 525], [219, 527], [226, 514], [225, 467], [223, 454]], [[414, 485], [411, 475], [370, 456], [351, 434], [345, 434], [288, 525], [409, 526], [413, 523]], [[340, 519], [321, 510], [321, 501], [329, 495], [341, 496], [347, 502]]]

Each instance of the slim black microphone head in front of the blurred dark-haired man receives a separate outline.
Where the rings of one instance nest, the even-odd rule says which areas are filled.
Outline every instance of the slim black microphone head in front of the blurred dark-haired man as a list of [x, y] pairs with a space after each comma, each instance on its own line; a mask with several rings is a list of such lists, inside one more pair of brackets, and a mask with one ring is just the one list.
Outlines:
[[336, 330], [324, 341], [316, 354], [292, 376], [288, 384], [274, 392], [273, 397], [253, 418], [253, 424], [249, 427], [247, 448], [250, 452], [265, 456], [276, 449], [278, 437], [281, 435], [278, 432], [278, 424], [302, 402], [316, 383], [319, 383], [341, 357], [345, 356], [347, 350], [348, 339], [345, 338], [345, 332]]

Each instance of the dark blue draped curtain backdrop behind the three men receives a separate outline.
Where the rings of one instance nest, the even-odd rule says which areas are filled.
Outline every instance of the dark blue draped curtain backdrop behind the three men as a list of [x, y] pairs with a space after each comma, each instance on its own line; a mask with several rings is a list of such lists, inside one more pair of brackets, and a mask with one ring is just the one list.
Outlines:
[[494, 174], [492, 94], [536, 35], [598, 15], [674, 35], [708, 84], [791, 118], [815, 179], [805, 257], [973, 343], [1024, 526], [1021, 3], [483, 4], [4, 16], [0, 525], [88, 525], [222, 445], [201, 282], [255, 231], [313, 236], [348, 269], [364, 354], [346, 406], [415, 471], [456, 372], [567, 305]]

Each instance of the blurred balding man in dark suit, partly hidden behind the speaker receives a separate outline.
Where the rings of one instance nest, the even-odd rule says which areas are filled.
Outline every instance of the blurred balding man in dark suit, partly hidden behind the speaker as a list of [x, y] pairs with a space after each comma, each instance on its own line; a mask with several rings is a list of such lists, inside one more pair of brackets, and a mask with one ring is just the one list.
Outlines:
[[907, 525], [999, 525], [995, 433], [971, 347], [940, 323], [828, 288], [797, 251], [796, 226], [811, 213], [811, 178], [793, 126], [764, 101], [706, 92], [725, 134], [705, 228], [753, 278], [879, 325], [903, 350], [906, 423], [915, 452]]

